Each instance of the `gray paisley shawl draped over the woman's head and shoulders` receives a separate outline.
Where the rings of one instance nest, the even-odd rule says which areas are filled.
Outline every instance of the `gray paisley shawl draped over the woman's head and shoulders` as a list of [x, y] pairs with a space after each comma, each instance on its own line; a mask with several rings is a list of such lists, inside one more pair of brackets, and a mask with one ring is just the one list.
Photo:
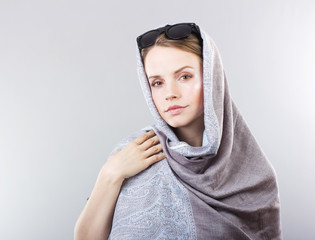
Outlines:
[[[275, 172], [232, 101], [220, 54], [203, 39], [206, 144], [179, 141], [153, 103], [137, 50], [140, 84], [166, 159], [124, 182], [110, 239], [281, 239]], [[113, 151], [115, 151], [114, 149]]]

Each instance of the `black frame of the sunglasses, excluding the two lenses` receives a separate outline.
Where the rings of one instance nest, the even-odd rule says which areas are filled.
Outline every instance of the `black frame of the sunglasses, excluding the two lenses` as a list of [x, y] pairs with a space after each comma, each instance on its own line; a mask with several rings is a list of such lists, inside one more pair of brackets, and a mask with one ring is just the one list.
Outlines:
[[[184, 36], [184, 37], [177, 37], [177, 38], [176, 38], [176, 37], [170, 37], [168, 31], [169, 31], [171, 28], [177, 27], [177, 26], [180, 26], [180, 25], [189, 26], [189, 27], [190, 27], [190, 32], [187, 33], [186, 36]], [[141, 51], [142, 49], [144, 49], [144, 48], [147, 48], [147, 47], [150, 47], [150, 46], [154, 45], [154, 43], [155, 43], [155, 41], [156, 41], [156, 38], [152, 41], [152, 43], [149, 43], [149, 44], [147, 44], [147, 45], [144, 46], [144, 47], [142, 46], [142, 43], [141, 43], [141, 39], [142, 39], [145, 35], [147, 35], [147, 34], [149, 34], [149, 33], [152, 33], [152, 32], [157, 32], [157, 33], [158, 33], [157, 36], [156, 36], [156, 38], [157, 38], [158, 36], [160, 36], [163, 32], [165, 32], [166, 37], [169, 38], [169, 39], [171, 39], [171, 40], [184, 39], [184, 38], [187, 38], [190, 34], [195, 33], [195, 34], [198, 36], [199, 40], [202, 40], [202, 39], [201, 39], [200, 28], [199, 28], [199, 26], [198, 26], [197, 24], [195, 24], [195, 23], [177, 23], [177, 24], [174, 24], [174, 25], [169, 25], [169, 24], [167, 24], [167, 25], [165, 25], [164, 27], [160, 27], [160, 28], [157, 28], [157, 29], [153, 29], [153, 30], [147, 31], [147, 32], [141, 34], [139, 37], [137, 37], [137, 44], [138, 44], [138, 48], [139, 48], [140, 51]], [[200, 41], [200, 42], [202, 43], [202, 41]]]

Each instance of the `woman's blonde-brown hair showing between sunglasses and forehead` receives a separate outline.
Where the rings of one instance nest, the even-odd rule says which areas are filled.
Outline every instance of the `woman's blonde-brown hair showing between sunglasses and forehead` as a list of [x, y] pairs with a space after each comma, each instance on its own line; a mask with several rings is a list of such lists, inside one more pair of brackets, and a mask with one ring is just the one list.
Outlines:
[[144, 62], [148, 52], [154, 47], [154, 46], [161, 46], [161, 47], [175, 47], [180, 50], [196, 54], [200, 59], [202, 60], [202, 47], [201, 47], [201, 41], [198, 39], [198, 37], [195, 34], [190, 34], [187, 38], [179, 39], [179, 40], [173, 40], [169, 39], [165, 36], [165, 33], [161, 34], [155, 41], [154, 45], [143, 48], [141, 50], [141, 56], [142, 61]]

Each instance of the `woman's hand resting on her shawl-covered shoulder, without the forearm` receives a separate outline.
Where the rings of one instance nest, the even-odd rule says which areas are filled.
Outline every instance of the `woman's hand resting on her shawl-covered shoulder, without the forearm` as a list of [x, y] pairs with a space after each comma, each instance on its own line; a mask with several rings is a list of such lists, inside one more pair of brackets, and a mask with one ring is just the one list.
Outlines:
[[159, 153], [163, 150], [159, 142], [153, 130], [146, 132], [118, 149], [108, 158], [104, 167], [107, 172], [118, 174], [119, 178], [130, 178], [165, 158], [163, 152]]

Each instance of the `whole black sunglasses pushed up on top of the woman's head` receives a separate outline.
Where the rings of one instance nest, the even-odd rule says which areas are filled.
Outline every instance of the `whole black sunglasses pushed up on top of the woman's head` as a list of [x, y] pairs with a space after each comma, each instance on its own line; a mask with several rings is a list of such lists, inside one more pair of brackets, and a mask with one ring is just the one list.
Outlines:
[[[198, 25], [195, 23], [178, 23], [150, 30], [137, 37], [139, 50], [152, 46], [158, 36], [163, 32], [165, 32], [167, 38], [172, 40], [187, 38], [192, 33], [195, 33], [199, 40], [201, 40], [201, 34]], [[202, 43], [202, 41], [200, 42]]]

